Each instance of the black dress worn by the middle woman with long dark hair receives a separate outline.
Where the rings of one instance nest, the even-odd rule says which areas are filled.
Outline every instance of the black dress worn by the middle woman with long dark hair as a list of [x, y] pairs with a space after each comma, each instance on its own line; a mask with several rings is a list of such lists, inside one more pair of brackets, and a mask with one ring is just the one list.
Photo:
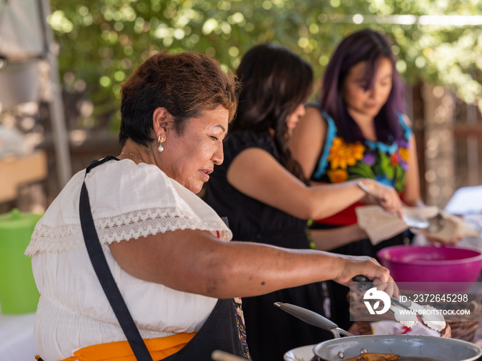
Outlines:
[[[236, 155], [247, 148], [263, 149], [278, 159], [275, 144], [267, 134], [244, 131], [229, 135], [224, 143], [224, 162], [214, 168], [211, 179], [206, 184], [205, 201], [220, 217], [227, 217], [235, 241], [254, 241], [285, 248], [309, 248], [306, 220], [297, 219], [248, 197], [227, 182], [229, 165]], [[331, 333], [278, 309], [273, 305], [277, 301], [330, 316], [326, 283], [313, 283], [243, 298], [247, 342], [254, 361], [280, 361], [290, 349], [333, 338]]]

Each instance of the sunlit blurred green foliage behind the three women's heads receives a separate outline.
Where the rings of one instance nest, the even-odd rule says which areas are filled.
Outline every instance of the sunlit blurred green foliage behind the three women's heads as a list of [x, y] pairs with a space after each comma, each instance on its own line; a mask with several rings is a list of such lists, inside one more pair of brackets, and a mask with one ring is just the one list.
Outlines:
[[[51, 0], [68, 91], [94, 104], [79, 127], [108, 118], [118, 129], [120, 84], [153, 52], [202, 52], [235, 70], [253, 45], [277, 43], [309, 61], [319, 78], [346, 34], [385, 32], [406, 81], [452, 88], [482, 110], [482, 27], [393, 22], [393, 15], [479, 15], [478, 0]], [[363, 17], [355, 14], [362, 14]], [[480, 16], [480, 15], [479, 15]], [[416, 19], [416, 18], [414, 18]], [[422, 18], [419, 18], [419, 20]], [[354, 22], [355, 21], [355, 22]]]

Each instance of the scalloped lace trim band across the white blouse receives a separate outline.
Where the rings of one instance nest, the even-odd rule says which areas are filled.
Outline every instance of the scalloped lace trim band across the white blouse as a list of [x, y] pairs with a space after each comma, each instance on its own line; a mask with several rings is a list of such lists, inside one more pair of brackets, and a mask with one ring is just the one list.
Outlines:
[[[229, 241], [230, 230], [220, 226], [222, 221], [202, 221], [178, 207], [147, 208], [123, 213], [115, 217], [94, 219], [98, 238], [101, 244], [109, 244], [129, 239], [138, 239], [148, 235], [173, 230], [207, 230], [219, 232], [220, 239]], [[85, 247], [80, 223], [50, 227], [41, 224], [36, 227], [25, 255], [32, 256], [36, 252], [63, 252], [74, 248]]]

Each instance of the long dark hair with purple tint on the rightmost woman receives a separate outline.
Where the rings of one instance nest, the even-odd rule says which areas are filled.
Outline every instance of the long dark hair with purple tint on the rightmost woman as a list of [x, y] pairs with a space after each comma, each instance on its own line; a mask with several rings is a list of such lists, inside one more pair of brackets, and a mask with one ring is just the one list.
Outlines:
[[366, 90], [375, 83], [375, 74], [382, 58], [392, 63], [392, 90], [383, 107], [375, 116], [377, 140], [390, 142], [403, 139], [399, 127], [399, 113], [404, 113], [404, 85], [395, 67], [396, 58], [390, 43], [379, 32], [370, 29], [360, 30], [347, 36], [331, 57], [322, 80], [322, 96], [319, 103], [337, 124], [338, 134], [347, 142], [363, 141], [365, 138], [357, 123], [346, 109], [343, 85], [350, 69], [366, 61]]

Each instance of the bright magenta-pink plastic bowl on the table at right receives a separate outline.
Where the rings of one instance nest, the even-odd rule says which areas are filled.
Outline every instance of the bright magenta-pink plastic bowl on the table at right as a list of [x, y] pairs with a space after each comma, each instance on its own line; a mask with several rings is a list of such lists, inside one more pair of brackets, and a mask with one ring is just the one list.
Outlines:
[[474, 248], [394, 245], [377, 256], [395, 282], [474, 283], [482, 267]]

